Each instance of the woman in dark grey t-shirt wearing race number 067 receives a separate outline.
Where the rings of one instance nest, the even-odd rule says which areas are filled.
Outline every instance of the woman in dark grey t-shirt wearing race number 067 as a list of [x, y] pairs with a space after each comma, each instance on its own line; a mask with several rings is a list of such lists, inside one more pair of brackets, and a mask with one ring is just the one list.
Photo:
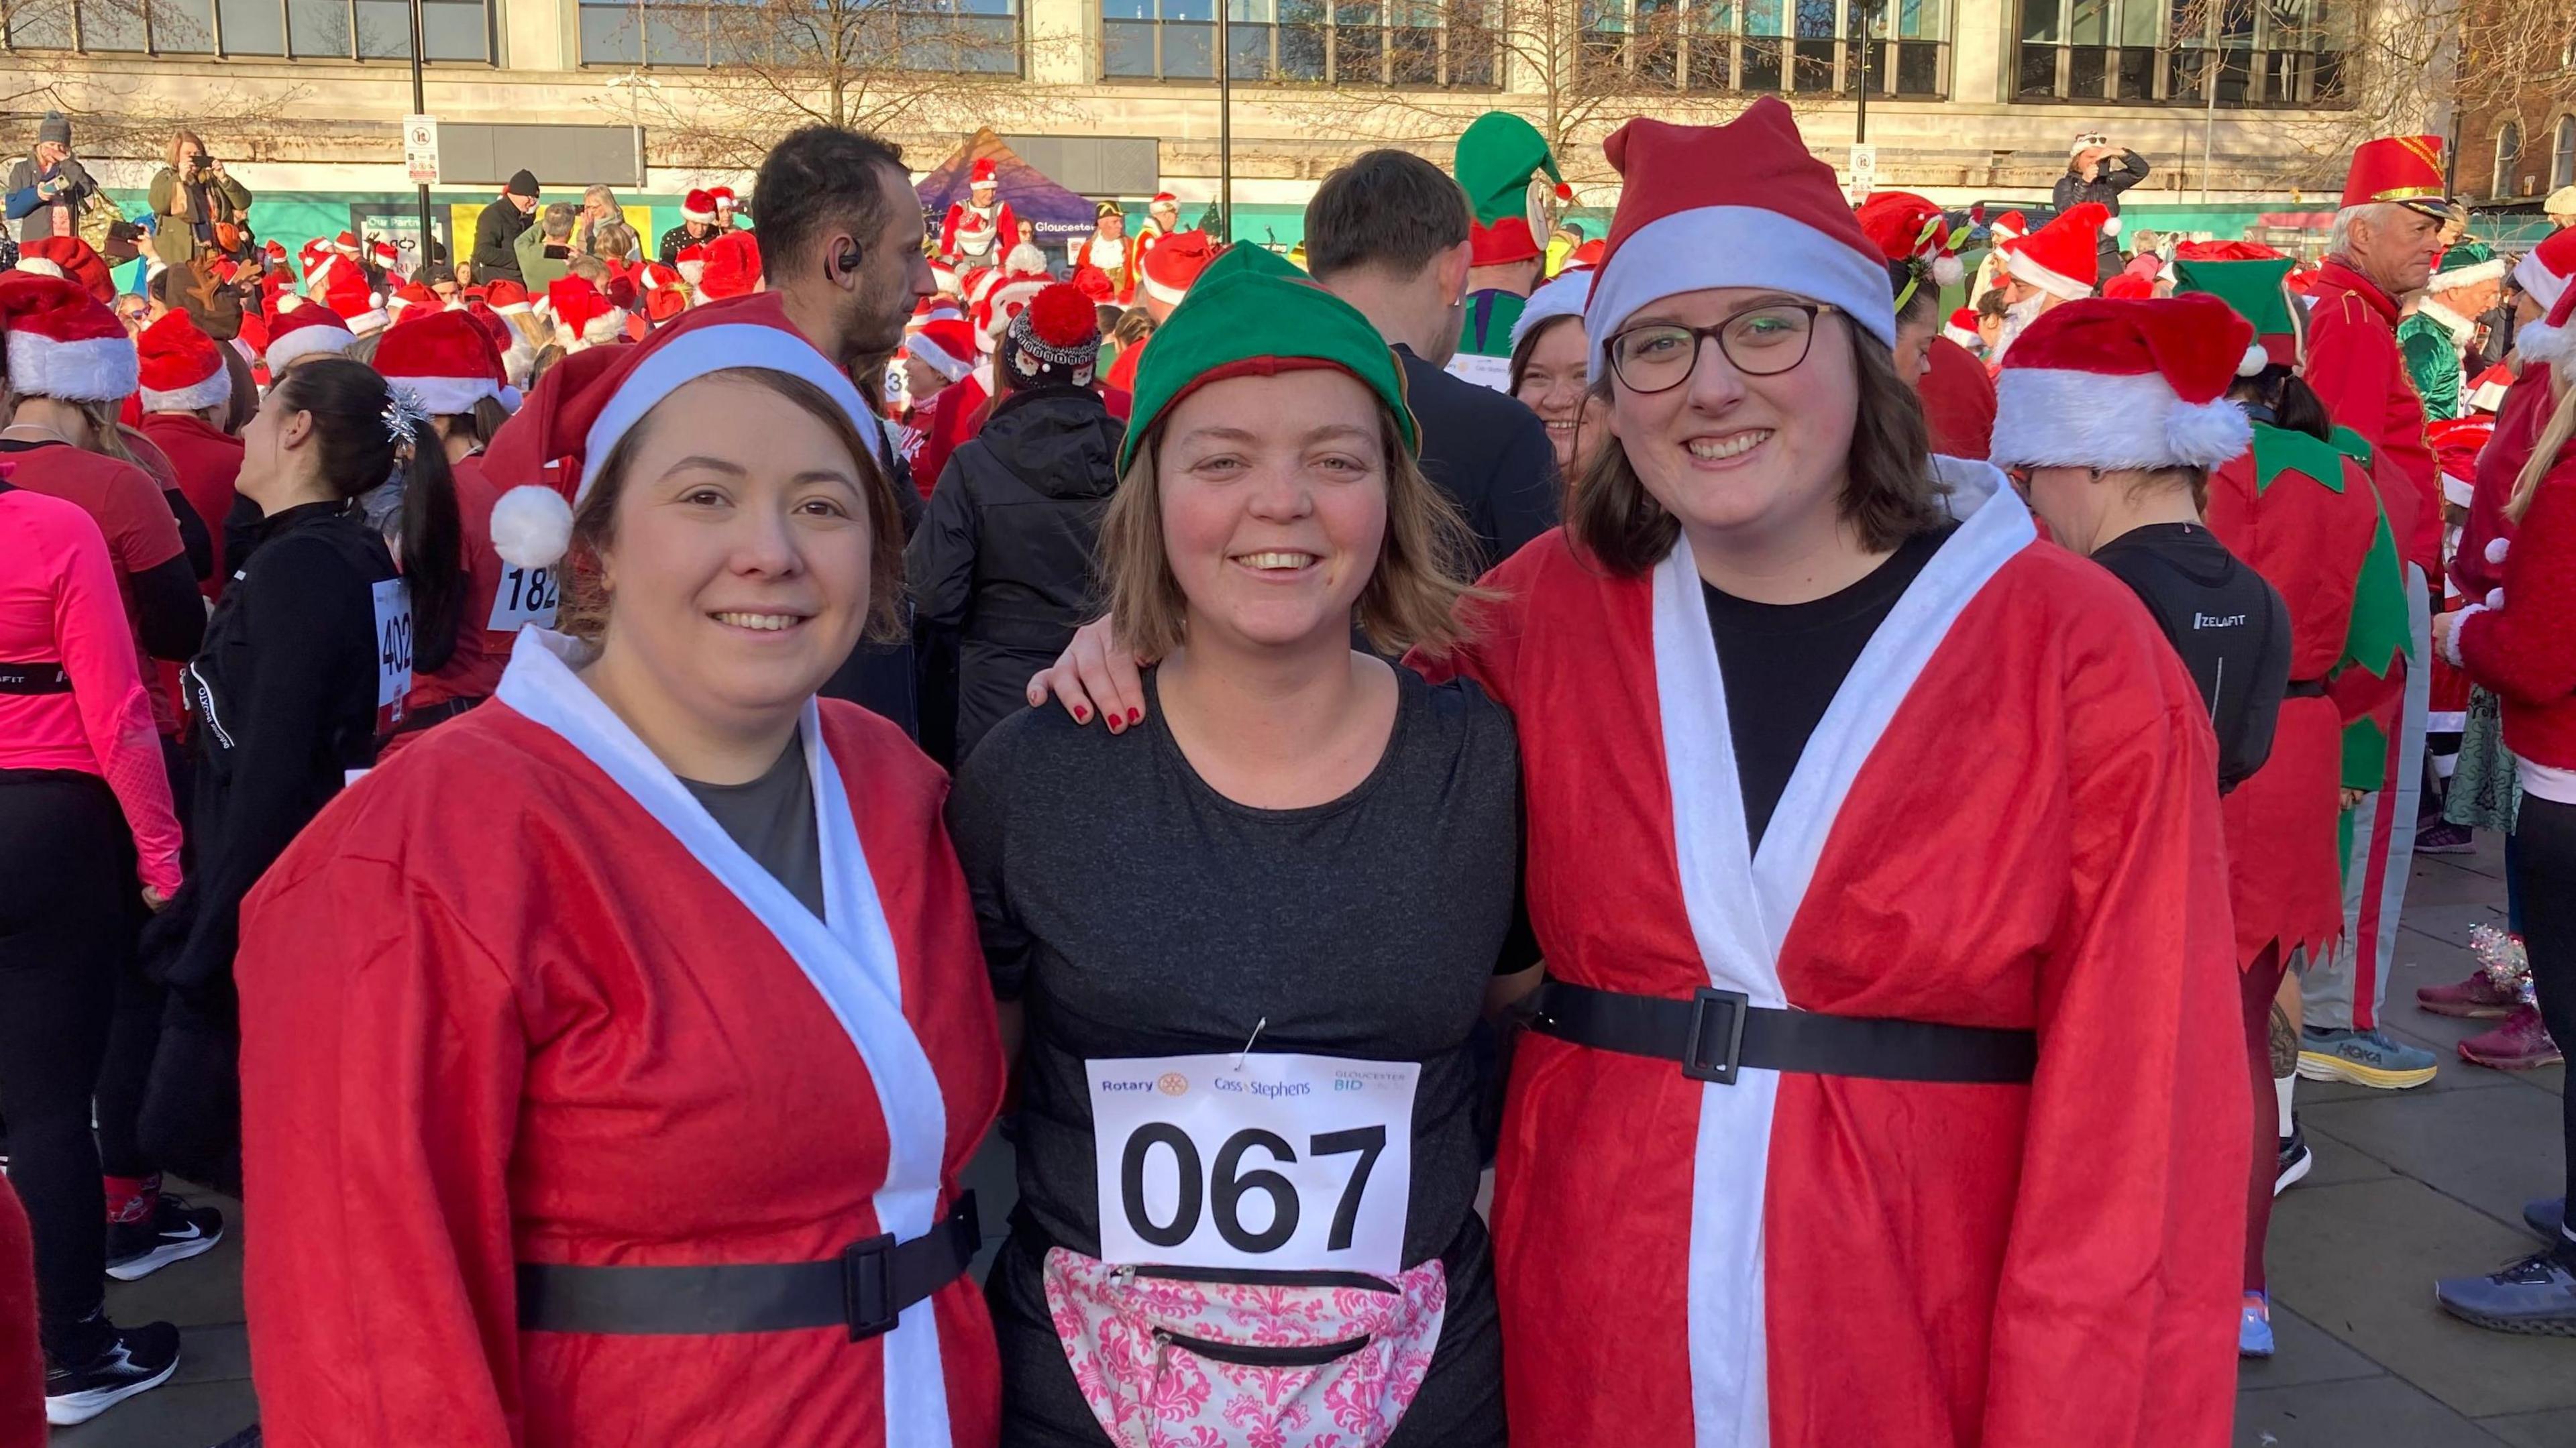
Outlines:
[[1103, 564], [1151, 719], [1020, 714], [951, 799], [1025, 1033], [1012, 1445], [1504, 1440], [1468, 1038], [1538, 974], [1517, 747], [1350, 647], [1453, 642], [1458, 520], [1386, 343], [1280, 265], [1229, 252], [1139, 374]]

